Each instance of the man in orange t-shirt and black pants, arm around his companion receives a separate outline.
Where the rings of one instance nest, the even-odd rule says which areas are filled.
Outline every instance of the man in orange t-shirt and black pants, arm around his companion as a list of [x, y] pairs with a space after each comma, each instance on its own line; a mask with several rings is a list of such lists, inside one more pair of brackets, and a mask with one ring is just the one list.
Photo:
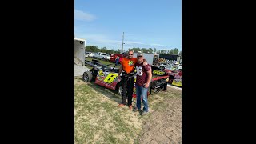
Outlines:
[[[126, 74], [131, 74], [135, 70], [135, 64], [138, 62], [137, 58], [133, 58], [134, 52], [130, 50], [126, 58], [122, 58], [121, 66], [119, 68], [118, 80], [120, 81], [122, 70], [125, 71]], [[143, 60], [143, 66], [146, 66], [148, 63], [146, 60]], [[132, 107], [132, 96], [133, 96], [133, 89], [134, 89], [134, 77], [124, 77], [122, 76], [122, 102], [118, 106], [125, 106], [126, 105], [126, 91], [128, 90], [127, 97], [128, 97], [128, 106], [130, 110], [133, 109]]]

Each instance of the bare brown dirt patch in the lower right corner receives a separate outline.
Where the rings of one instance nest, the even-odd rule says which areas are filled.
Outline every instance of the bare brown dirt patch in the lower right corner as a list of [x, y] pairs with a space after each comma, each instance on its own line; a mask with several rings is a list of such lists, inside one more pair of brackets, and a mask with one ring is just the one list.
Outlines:
[[152, 112], [142, 124], [139, 143], [182, 143], [182, 98], [166, 98], [163, 105], [166, 106], [164, 109]]

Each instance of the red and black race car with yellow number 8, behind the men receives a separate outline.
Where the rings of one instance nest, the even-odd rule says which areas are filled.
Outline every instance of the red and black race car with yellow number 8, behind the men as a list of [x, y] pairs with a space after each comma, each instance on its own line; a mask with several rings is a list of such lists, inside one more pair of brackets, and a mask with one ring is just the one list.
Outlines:
[[[110, 65], [103, 65], [103, 66], [94, 66], [91, 70], [87, 70], [83, 73], [83, 80], [85, 82], [92, 82], [94, 81], [96, 84], [100, 86], [104, 86], [110, 90], [116, 90], [119, 95], [122, 95], [122, 85], [118, 82], [118, 71], [119, 68], [110, 67]], [[152, 68], [152, 80], [150, 82], [150, 88], [148, 94], [155, 94], [159, 91], [166, 91], [167, 90], [167, 82], [169, 81], [169, 75], [166, 74], [165, 71], [161, 70], [156, 66], [151, 66]], [[136, 73], [136, 71], [135, 71]], [[122, 72], [122, 74], [124, 74]], [[121, 74], [121, 78], [122, 78]], [[135, 89], [135, 82], [136, 82], [136, 74], [130, 75], [131, 77], [135, 77], [134, 81], [134, 91], [133, 97], [136, 98], [136, 89]]]

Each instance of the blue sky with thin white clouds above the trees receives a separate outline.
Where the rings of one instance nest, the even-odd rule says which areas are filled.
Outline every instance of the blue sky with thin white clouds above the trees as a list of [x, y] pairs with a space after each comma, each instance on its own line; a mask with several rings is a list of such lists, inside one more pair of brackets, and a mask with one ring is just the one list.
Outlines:
[[181, 0], [75, 0], [74, 34], [86, 46], [182, 50]]

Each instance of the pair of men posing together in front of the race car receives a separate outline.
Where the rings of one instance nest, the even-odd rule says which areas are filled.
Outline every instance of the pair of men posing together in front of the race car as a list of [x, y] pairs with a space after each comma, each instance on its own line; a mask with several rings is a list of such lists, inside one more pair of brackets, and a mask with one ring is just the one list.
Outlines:
[[122, 58], [121, 66], [119, 68], [118, 79], [121, 79], [120, 74], [122, 70], [125, 71], [126, 74], [122, 75], [122, 102], [118, 106], [126, 105], [126, 91], [128, 97], [128, 106], [130, 110], [132, 110], [132, 94], [134, 88], [134, 77], [131, 77], [130, 74], [134, 73], [136, 68], [136, 107], [134, 111], [138, 111], [141, 109], [141, 98], [142, 103], [144, 105], [142, 115], [148, 113], [148, 102], [147, 102], [147, 91], [150, 86], [152, 73], [151, 66], [146, 62], [143, 58], [142, 53], [137, 54], [137, 58], [133, 58], [133, 51], [128, 52], [128, 56], [126, 58]]

